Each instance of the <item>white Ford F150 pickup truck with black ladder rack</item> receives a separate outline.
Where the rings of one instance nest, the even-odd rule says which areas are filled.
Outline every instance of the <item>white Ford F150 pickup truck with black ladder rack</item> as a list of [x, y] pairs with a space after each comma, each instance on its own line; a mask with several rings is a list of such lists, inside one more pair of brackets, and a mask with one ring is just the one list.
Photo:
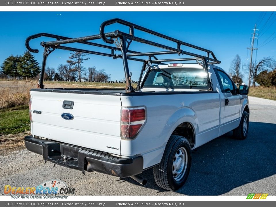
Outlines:
[[[117, 47], [108, 49], [117, 48], [122, 52], [122, 55], [111, 54], [123, 60], [129, 80], [127, 88], [45, 89], [41, 77], [39, 88], [30, 91], [31, 135], [25, 137], [26, 148], [41, 154], [45, 161], [82, 172], [132, 177], [143, 185], [146, 181], [139, 174], [153, 168], [158, 186], [177, 190], [188, 177], [191, 150], [229, 131], [233, 131], [236, 139], [246, 138], [249, 126], [248, 86], [237, 88], [229, 75], [214, 65], [219, 61], [211, 51], [200, 48], [208, 54], [200, 56], [180, 49], [181, 45], [187, 46], [188, 43], [179, 41], [179, 47], [167, 49], [174, 54], [195, 57], [182, 58], [181, 63], [161, 64], [178, 61], [157, 59], [155, 55], [162, 55], [163, 51], [129, 51], [129, 45], [124, 45], [127, 42], [124, 38], [145, 43], [145, 39], [141, 41], [133, 34], [133, 28], [141, 30], [142, 27], [115, 20], [106, 21], [101, 27], [114, 22], [131, 25], [130, 34], [116, 30], [113, 35], [103, 33], [79, 41], [78, 38], [52, 35], [57, 41], [42, 42], [41, 45], [45, 47], [46, 59], [45, 54], [51, 49], [67, 48], [61, 44], [84, 43], [100, 38], [107, 42], [119, 37], [120, 44], [117, 42]], [[142, 31], [153, 32], [145, 28]], [[154, 33], [157, 34], [161, 37], [160, 33]], [[34, 51], [28, 42], [49, 35], [41, 33], [29, 37], [27, 48]], [[154, 46], [160, 47], [160, 44]], [[163, 46], [161, 48], [166, 49]], [[75, 48], [70, 49], [76, 51]], [[82, 52], [89, 53], [87, 50]], [[142, 56], [140, 54], [155, 60], [149, 58], [144, 61], [137, 89], [133, 89], [127, 60], [134, 60], [133, 57]], [[41, 74], [45, 69], [44, 59]], [[191, 60], [198, 63], [190, 63]], [[208, 64], [209, 61], [212, 64]]]

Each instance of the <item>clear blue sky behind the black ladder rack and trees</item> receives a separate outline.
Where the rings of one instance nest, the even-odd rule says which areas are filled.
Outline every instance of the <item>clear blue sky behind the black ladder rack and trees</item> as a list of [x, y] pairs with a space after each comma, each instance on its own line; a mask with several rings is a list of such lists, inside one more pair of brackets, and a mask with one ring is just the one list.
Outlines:
[[[150, 28], [176, 39], [210, 49], [214, 52], [219, 66], [228, 71], [231, 60], [239, 54], [247, 64], [250, 60], [250, 47], [252, 28], [257, 23], [260, 29], [258, 45], [264, 45], [276, 36], [276, 18], [272, 12], [0, 12], [0, 62], [9, 55], [21, 55], [26, 50], [26, 37], [47, 32], [66, 37], [83, 37], [99, 33], [100, 24], [108, 19], [121, 18], [135, 24]], [[273, 22], [274, 21], [274, 22]], [[106, 27], [106, 32], [116, 29], [128, 32], [124, 26], [112, 25]], [[274, 32], [274, 33], [273, 33]], [[136, 36], [159, 43], [166, 43], [156, 37], [136, 32]], [[41, 41], [53, 39], [41, 37], [30, 42], [30, 46], [39, 49], [39, 53], [33, 53], [41, 64], [43, 47]], [[103, 41], [98, 40], [98, 43]], [[263, 43], [264, 42], [264, 43]], [[169, 44], [169, 43], [168, 43]], [[68, 45], [69, 46], [69, 45]], [[72, 47], [89, 49], [89, 46], [71, 44]], [[173, 46], [173, 45], [172, 45]], [[96, 50], [95, 48], [90, 48]], [[150, 46], [132, 43], [130, 49], [137, 51], [154, 51]], [[185, 48], [182, 48], [185, 49]], [[99, 51], [110, 53], [110, 50]], [[162, 51], [157, 49], [156, 51]], [[59, 64], [65, 64], [69, 51], [56, 50], [49, 55], [47, 66], [57, 68]], [[276, 38], [268, 44], [260, 47], [257, 60], [262, 57], [276, 55]], [[112, 80], [124, 78], [122, 60], [113, 60], [110, 57], [88, 55], [90, 59], [83, 66], [95, 66], [97, 69], [105, 69], [111, 74]], [[255, 60], [255, 52], [254, 52]], [[129, 61], [129, 68], [133, 73], [132, 79], [137, 80], [142, 64]], [[245, 68], [245, 67], [244, 67]], [[243, 73], [245, 73], [243, 71]], [[247, 80], [247, 74], [244, 81]]]

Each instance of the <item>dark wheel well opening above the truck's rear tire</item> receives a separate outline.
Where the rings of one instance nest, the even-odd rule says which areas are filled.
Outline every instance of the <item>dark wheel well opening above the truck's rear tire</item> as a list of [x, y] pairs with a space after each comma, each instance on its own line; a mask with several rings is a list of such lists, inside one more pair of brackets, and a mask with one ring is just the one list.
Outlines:
[[173, 131], [172, 135], [179, 135], [186, 137], [189, 140], [191, 148], [195, 145], [195, 132], [193, 130], [192, 124], [189, 122], [184, 122], [179, 124], [178, 127]]

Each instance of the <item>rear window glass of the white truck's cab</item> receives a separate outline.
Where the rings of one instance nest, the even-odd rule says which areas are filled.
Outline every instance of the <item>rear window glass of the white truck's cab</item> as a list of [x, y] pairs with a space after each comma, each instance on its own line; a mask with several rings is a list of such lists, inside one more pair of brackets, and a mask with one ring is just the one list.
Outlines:
[[147, 74], [142, 87], [208, 89], [208, 81], [202, 68], [156, 68]]

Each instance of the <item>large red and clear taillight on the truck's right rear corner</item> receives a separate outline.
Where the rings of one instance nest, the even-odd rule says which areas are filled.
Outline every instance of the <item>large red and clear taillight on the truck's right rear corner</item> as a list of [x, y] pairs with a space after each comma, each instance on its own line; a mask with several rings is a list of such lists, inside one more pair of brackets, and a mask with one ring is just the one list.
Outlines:
[[121, 139], [134, 139], [145, 123], [145, 108], [122, 108]]

